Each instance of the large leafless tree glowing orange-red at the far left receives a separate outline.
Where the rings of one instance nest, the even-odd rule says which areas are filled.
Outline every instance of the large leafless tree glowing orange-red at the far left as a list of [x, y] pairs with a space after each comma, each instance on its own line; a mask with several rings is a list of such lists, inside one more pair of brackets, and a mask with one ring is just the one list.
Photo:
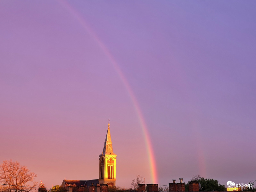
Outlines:
[[[34, 189], [37, 182], [33, 182], [37, 175], [19, 162], [6, 160], [0, 165], [0, 181], [7, 185], [9, 192], [29, 192]], [[30, 183], [30, 185], [29, 185]]]

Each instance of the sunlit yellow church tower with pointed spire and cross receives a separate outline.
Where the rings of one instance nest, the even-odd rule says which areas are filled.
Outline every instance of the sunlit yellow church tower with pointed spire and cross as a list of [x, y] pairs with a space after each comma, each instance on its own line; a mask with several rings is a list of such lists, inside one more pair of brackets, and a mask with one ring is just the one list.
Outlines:
[[109, 186], [116, 185], [116, 154], [113, 152], [112, 141], [109, 130], [108, 120], [108, 131], [106, 140], [104, 143], [103, 151], [99, 155], [99, 184], [108, 184]]

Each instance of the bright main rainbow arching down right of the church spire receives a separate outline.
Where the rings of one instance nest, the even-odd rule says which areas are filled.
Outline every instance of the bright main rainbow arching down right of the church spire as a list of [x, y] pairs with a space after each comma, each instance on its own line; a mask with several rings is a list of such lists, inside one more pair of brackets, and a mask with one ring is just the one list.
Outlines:
[[68, 12], [70, 12], [72, 14], [72, 16], [78, 20], [78, 22], [81, 24], [81, 26], [89, 33], [89, 35], [97, 42], [97, 44], [100, 46], [100, 48], [103, 50], [104, 54], [109, 58], [109, 60], [111, 61], [114, 69], [116, 70], [116, 72], [118, 73], [118, 75], [120, 76], [123, 84], [125, 85], [130, 98], [132, 100], [132, 103], [134, 105], [135, 111], [137, 113], [139, 122], [140, 122], [140, 126], [143, 130], [144, 133], [144, 140], [145, 140], [145, 145], [146, 145], [146, 149], [147, 149], [147, 155], [148, 155], [148, 159], [149, 159], [149, 164], [150, 164], [150, 170], [151, 170], [151, 182], [152, 183], [157, 183], [157, 169], [156, 169], [156, 162], [155, 162], [155, 157], [154, 157], [154, 152], [153, 152], [153, 148], [152, 148], [152, 144], [151, 144], [151, 140], [150, 140], [150, 136], [148, 133], [148, 129], [147, 129], [147, 125], [145, 123], [143, 114], [141, 112], [141, 109], [139, 107], [138, 101], [136, 100], [136, 97], [134, 95], [134, 92], [132, 91], [126, 77], [124, 76], [123, 72], [121, 71], [120, 67], [118, 66], [116, 60], [114, 59], [114, 57], [112, 56], [112, 54], [109, 52], [109, 50], [107, 49], [107, 47], [103, 44], [103, 42], [95, 35], [95, 33], [93, 32], [93, 30], [87, 25], [86, 21], [78, 14], [78, 12], [70, 5], [68, 4], [68, 2], [63, 1], [63, 0], [57, 0]]

